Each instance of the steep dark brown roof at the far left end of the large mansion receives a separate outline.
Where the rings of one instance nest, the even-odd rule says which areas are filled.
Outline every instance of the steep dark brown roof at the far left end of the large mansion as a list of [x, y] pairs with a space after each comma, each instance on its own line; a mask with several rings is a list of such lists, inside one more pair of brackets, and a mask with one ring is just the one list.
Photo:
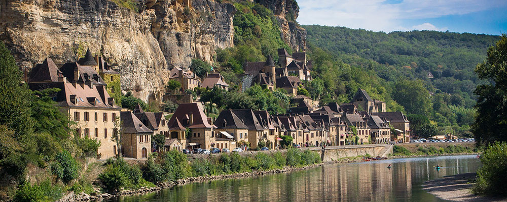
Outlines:
[[37, 64], [30, 72], [28, 82], [57, 82], [62, 73], [50, 58], [46, 58], [42, 64]]

